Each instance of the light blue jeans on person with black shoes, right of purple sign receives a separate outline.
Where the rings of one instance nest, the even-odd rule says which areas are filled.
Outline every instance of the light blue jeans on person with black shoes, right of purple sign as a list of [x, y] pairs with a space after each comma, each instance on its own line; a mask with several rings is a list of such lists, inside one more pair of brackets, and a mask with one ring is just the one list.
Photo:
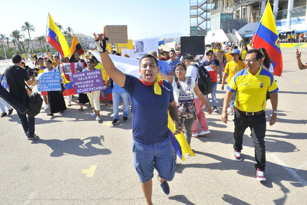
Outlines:
[[128, 93], [117, 93], [117, 92], [112, 91], [113, 112], [114, 112], [113, 118], [114, 119], [119, 119], [118, 106], [119, 106], [119, 103], [121, 102], [121, 99], [122, 99], [122, 102], [124, 103], [124, 111], [123, 111], [122, 116], [128, 117], [128, 114], [129, 114], [128, 98], [129, 98]]

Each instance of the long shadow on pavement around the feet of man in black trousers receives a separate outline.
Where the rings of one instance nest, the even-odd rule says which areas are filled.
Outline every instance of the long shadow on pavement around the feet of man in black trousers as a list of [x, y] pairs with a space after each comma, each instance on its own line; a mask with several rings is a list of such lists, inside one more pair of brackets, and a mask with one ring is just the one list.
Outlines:
[[[213, 155], [200, 151], [194, 151], [194, 153], [196, 154], [196, 157], [197, 155], [203, 155], [215, 159], [219, 162], [208, 163], [208, 164], [200, 164], [200, 163], [177, 164], [176, 167], [177, 173], [181, 174], [185, 168], [202, 168], [210, 170], [236, 170], [239, 175], [252, 177], [255, 178], [256, 180], [254, 157], [242, 154], [242, 161], [236, 162], [234, 159], [228, 159], [220, 157], [218, 155]], [[251, 160], [252, 162], [247, 161], [246, 159]], [[282, 184], [282, 181], [289, 181], [293, 187], [306, 187], [307, 186], [306, 180], [307, 180], [306, 170], [289, 168], [276, 163], [266, 161], [266, 181], [261, 182], [261, 184], [267, 188], [273, 188], [273, 183], [278, 185], [281, 191], [284, 193], [284, 195], [279, 199], [275, 199], [274, 203], [283, 204], [286, 201], [287, 193], [289, 193], [290, 191]]]

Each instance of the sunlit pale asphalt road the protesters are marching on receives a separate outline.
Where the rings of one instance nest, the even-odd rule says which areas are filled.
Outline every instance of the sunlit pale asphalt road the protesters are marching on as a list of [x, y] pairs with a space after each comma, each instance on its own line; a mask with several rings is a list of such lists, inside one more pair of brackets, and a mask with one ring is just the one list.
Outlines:
[[[301, 51], [307, 62], [307, 50]], [[283, 50], [283, 62], [283, 74], [275, 78], [278, 122], [267, 123], [267, 180], [256, 180], [250, 131], [243, 139], [243, 160], [236, 162], [233, 122], [222, 123], [220, 113], [207, 114], [211, 134], [192, 139], [195, 157], [177, 159], [170, 195], [153, 178], [154, 204], [306, 204], [307, 70], [297, 68], [294, 49]], [[0, 64], [0, 72], [6, 66]], [[219, 108], [225, 94], [220, 87]], [[0, 204], [145, 204], [133, 165], [132, 116], [112, 126], [111, 106], [101, 103], [100, 123], [90, 108], [78, 108], [73, 101], [54, 117], [42, 110], [36, 141], [26, 139], [16, 111], [0, 119]], [[268, 102], [267, 121], [271, 112]]]

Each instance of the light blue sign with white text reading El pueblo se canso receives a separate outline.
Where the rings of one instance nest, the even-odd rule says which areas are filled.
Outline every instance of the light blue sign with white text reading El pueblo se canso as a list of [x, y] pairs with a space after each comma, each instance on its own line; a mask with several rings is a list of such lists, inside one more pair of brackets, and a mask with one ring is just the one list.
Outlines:
[[60, 72], [41, 73], [37, 76], [38, 91], [61, 90]]

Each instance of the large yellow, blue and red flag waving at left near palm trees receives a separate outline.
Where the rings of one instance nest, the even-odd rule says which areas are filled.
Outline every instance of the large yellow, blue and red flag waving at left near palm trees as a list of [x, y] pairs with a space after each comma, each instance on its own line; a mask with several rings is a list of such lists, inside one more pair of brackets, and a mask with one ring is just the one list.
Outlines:
[[67, 57], [70, 54], [70, 49], [66, 38], [56, 26], [49, 13], [46, 28], [46, 41], [57, 51], [59, 51], [62, 57]]

